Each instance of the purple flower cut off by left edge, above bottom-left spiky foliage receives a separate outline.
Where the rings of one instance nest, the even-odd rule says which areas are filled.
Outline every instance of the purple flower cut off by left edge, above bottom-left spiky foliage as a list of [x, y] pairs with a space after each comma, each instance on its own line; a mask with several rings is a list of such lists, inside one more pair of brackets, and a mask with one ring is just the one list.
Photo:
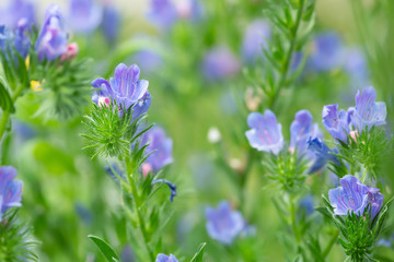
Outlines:
[[22, 182], [13, 180], [16, 172], [12, 166], [0, 167], [0, 222], [10, 207], [21, 206]]

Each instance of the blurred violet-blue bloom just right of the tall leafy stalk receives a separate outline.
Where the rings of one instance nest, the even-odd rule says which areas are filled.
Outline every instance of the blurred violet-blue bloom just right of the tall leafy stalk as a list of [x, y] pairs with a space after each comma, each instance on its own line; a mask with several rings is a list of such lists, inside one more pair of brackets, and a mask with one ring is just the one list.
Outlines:
[[334, 32], [317, 35], [314, 39], [314, 50], [311, 53], [308, 66], [316, 71], [329, 71], [340, 66], [341, 40]]

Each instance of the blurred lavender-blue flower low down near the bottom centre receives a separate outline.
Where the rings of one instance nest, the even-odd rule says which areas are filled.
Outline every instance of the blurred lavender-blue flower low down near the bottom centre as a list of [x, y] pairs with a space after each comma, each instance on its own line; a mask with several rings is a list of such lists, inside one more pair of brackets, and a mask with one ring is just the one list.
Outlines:
[[241, 212], [232, 211], [227, 201], [220, 202], [217, 210], [207, 207], [206, 218], [208, 235], [225, 245], [231, 245], [245, 228]]

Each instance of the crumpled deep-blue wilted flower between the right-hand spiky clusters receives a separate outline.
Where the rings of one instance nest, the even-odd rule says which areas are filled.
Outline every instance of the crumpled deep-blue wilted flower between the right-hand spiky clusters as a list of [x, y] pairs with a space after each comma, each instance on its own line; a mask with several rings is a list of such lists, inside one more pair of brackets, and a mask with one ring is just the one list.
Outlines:
[[316, 159], [313, 165], [309, 169], [309, 174], [313, 174], [322, 169], [328, 160], [333, 162], [335, 165], [340, 166], [340, 162], [336, 158], [333, 153], [337, 153], [332, 151], [326, 144], [324, 144], [317, 138], [310, 138], [308, 140], [308, 150], [316, 155]]

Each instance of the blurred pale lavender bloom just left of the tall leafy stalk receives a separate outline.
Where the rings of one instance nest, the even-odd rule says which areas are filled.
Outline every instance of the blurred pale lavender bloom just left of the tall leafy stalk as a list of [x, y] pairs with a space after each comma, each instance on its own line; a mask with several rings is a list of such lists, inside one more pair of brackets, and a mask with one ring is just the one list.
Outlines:
[[255, 20], [247, 25], [242, 44], [242, 55], [247, 62], [264, 57], [263, 48], [267, 47], [270, 34], [270, 26], [264, 20]]

